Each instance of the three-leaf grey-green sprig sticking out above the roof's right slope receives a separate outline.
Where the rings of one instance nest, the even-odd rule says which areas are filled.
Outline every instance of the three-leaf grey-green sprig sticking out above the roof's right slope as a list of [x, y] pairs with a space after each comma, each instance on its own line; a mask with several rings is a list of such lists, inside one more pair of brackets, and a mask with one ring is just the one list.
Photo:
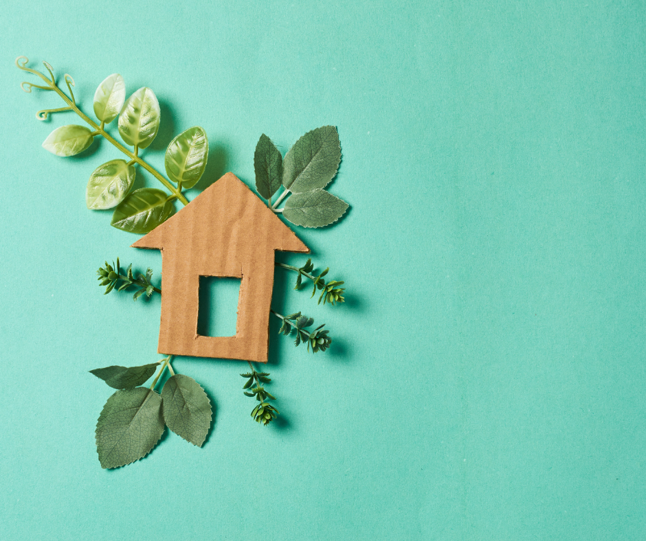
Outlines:
[[[323, 188], [337, 174], [341, 161], [339, 134], [335, 126], [322, 126], [303, 135], [282, 158], [280, 150], [263, 133], [254, 152], [258, 194], [269, 208], [282, 213], [294, 225], [324, 227], [336, 222], [348, 204]], [[271, 204], [280, 186], [284, 191]], [[291, 195], [293, 194], [293, 195]], [[278, 204], [287, 196], [285, 207]]]

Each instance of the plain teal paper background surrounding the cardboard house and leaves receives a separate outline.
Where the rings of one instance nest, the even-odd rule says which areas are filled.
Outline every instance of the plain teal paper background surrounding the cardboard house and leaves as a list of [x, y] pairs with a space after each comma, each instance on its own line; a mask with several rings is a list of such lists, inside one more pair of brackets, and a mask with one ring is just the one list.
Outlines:
[[[644, 539], [645, 19], [642, 1], [5, 2], [0, 537]], [[295, 229], [348, 302], [276, 271], [276, 308], [334, 338], [312, 356], [272, 321], [279, 424], [250, 419], [244, 363], [177, 358], [216, 405], [203, 448], [167, 433], [100, 468], [111, 390], [89, 369], [161, 356], [159, 299], [104, 297], [94, 273], [119, 256], [159, 279], [161, 257], [85, 208], [116, 150], [41, 148], [78, 120], [36, 120], [60, 102], [21, 91], [23, 54], [70, 73], [87, 113], [110, 73], [151, 87], [157, 168], [203, 126], [199, 189], [252, 185], [261, 133], [286, 152], [337, 126], [351, 208]]]

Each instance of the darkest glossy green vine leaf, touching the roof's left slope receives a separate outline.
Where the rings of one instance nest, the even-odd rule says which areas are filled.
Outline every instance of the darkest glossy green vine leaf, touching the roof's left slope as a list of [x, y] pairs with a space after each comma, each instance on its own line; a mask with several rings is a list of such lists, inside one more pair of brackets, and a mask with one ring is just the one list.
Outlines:
[[131, 233], [153, 231], [175, 212], [167, 198], [161, 189], [135, 189], [115, 209], [111, 225]]

